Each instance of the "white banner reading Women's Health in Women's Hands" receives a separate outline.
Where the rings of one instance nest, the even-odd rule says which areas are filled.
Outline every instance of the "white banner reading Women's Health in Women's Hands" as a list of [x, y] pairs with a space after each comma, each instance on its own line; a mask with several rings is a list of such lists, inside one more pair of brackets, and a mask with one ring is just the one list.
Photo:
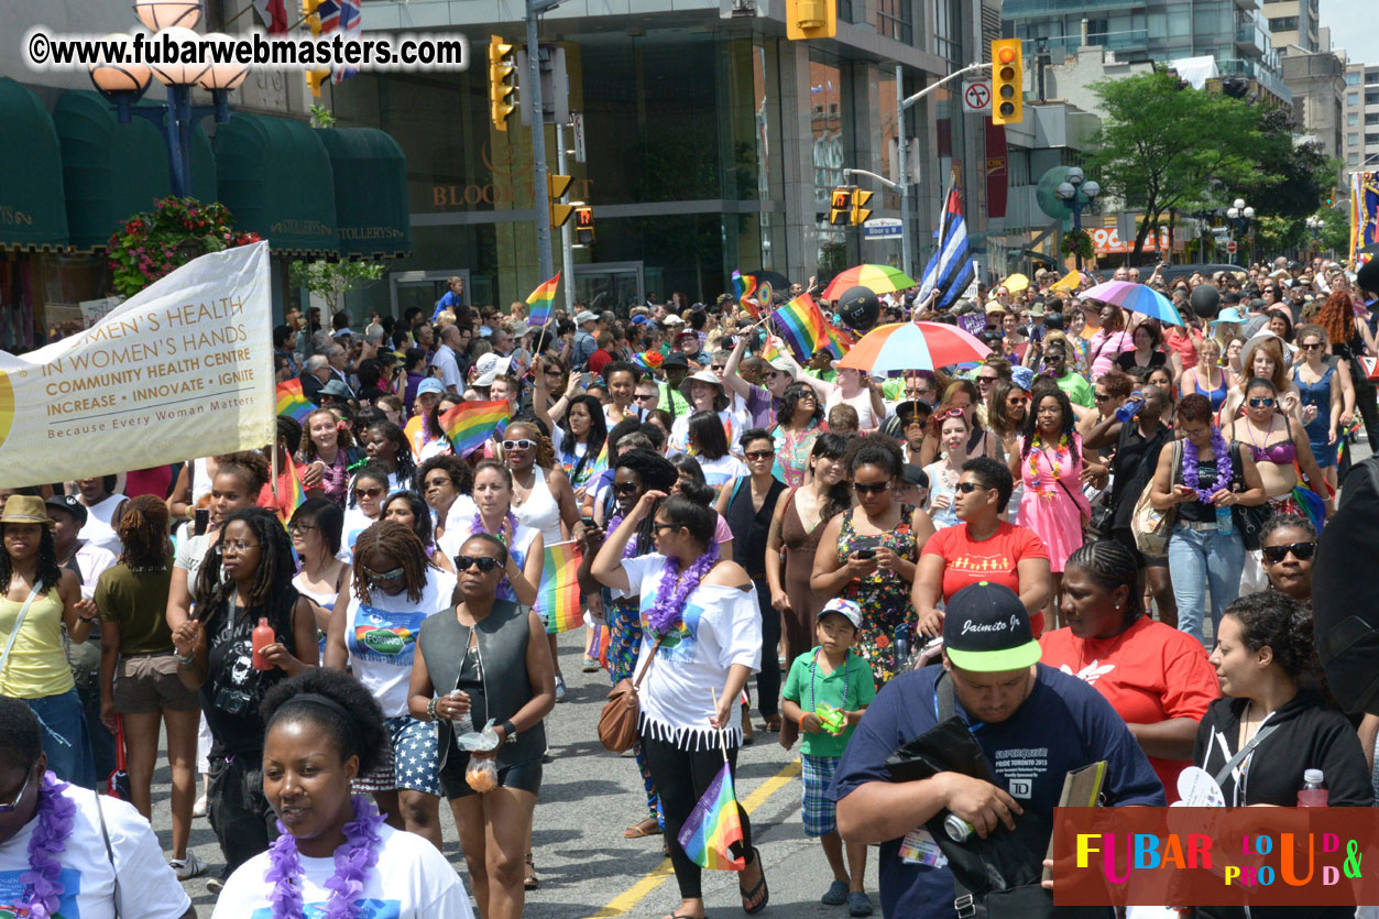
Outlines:
[[268, 243], [203, 255], [91, 328], [0, 352], [0, 487], [274, 440]]

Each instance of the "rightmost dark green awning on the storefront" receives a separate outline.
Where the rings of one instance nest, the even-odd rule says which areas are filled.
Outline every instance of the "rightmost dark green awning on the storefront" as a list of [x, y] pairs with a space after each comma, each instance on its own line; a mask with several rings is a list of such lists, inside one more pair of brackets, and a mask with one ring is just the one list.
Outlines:
[[411, 254], [407, 156], [376, 128], [330, 128], [316, 135], [335, 171], [335, 218], [345, 258], [403, 258]]

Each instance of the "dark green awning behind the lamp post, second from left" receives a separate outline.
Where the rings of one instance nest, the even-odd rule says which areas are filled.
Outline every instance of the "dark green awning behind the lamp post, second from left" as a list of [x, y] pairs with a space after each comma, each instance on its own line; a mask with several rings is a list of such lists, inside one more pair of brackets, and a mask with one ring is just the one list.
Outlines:
[[[148, 99], [139, 108], [153, 108]], [[131, 214], [172, 195], [163, 132], [143, 117], [120, 124], [97, 92], [69, 90], [52, 110], [62, 145], [68, 225], [77, 248], [102, 248]], [[200, 126], [192, 132], [192, 197], [215, 200], [215, 157]]]

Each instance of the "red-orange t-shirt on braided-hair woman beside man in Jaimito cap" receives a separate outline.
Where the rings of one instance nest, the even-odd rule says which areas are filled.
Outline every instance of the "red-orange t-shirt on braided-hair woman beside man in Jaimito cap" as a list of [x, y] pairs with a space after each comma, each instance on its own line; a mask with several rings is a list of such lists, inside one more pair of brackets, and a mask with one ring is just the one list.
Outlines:
[[[1038, 643], [1044, 664], [1095, 686], [1127, 724], [1171, 718], [1200, 722], [1220, 695], [1201, 642], [1146, 615], [1114, 638], [1080, 639], [1071, 629], [1058, 629]], [[1149, 763], [1164, 782], [1168, 803], [1178, 800], [1178, 773], [1193, 762], [1150, 756]]]

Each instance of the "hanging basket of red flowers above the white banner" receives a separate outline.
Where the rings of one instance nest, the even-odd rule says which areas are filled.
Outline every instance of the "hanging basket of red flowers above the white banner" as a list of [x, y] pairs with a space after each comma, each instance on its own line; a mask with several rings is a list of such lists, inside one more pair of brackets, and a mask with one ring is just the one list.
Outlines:
[[234, 218], [218, 201], [163, 197], [152, 211], [134, 214], [110, 235], [110, 286], [121, 297], [132, 297], [193, 258], [256, 241], [258, 233], [234, 229]]

